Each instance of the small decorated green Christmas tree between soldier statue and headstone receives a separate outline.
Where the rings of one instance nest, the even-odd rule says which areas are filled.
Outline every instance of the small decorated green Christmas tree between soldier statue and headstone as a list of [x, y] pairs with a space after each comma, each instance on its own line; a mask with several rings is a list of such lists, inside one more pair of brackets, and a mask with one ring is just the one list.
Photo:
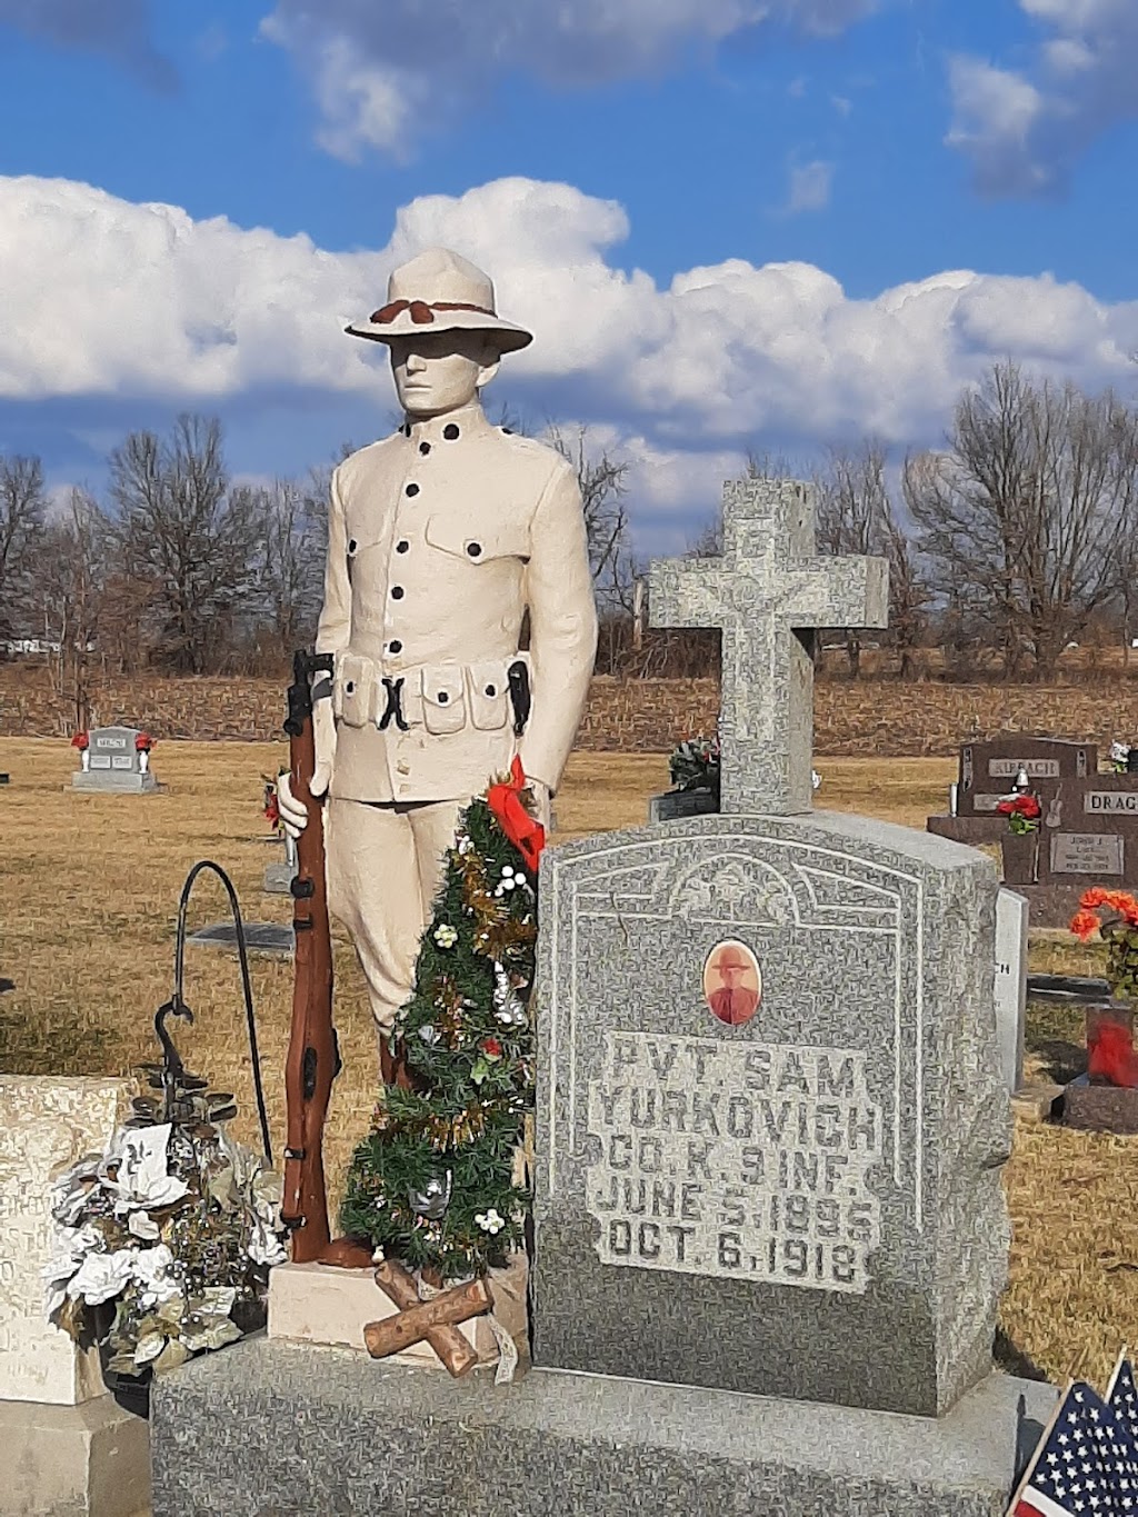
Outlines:
[[516, 1161], [533, 1110], [536, 884], [475, 799], [391, 1033], [413, 1088], [384, 1091], [347, 1176], [344, 1233], [443, 1280], [484, 1274], [523, 1245], [530, 1194]]

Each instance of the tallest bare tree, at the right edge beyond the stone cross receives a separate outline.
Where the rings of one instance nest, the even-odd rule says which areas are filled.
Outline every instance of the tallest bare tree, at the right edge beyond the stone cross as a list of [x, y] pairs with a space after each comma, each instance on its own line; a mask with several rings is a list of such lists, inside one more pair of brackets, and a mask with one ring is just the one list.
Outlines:
[[935, 586], [985, 623], [1004, 672], [1048, 678], [1117, 589], [1133, 520], [1138, 419], [1114, 393], [997, 364], [956, 407], [948, 448], [906, 469]]

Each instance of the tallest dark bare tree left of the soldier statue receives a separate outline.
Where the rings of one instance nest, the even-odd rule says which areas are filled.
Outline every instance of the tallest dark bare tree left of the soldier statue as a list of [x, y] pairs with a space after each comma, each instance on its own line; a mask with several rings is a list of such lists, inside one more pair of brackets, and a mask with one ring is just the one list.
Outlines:
[[111, 455], [111, 498], [127, 579], [152, 592], [156, 657], [179, 674], [225, 661], [250, 610], [259, 516], [255, 492], [231, 488], [220, 423], [132, 432]]

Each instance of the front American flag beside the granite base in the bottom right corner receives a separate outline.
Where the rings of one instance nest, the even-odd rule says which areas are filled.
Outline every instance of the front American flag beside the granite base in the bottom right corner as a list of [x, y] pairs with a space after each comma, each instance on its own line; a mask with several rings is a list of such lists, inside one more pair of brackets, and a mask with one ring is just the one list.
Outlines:
[[[1132, 1377], [1129, 1387], [1133, 1390]], [[1076, 1380], [1044, 1434], [1009, 1517], [1138, 1517], [1138, 1446], [1129, 1417]]]

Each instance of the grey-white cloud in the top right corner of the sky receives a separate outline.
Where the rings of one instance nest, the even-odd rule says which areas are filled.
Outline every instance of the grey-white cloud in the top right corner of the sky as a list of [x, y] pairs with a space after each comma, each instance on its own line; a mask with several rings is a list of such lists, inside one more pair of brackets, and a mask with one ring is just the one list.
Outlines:
[[1135, 0], [1020, 0], [1020, 9], [1050, 29], [1026, 68], [974, 56], [950, 64], [947, 141], [991, 196], [1062, 190], [1096, 137], [1138, 117]]

